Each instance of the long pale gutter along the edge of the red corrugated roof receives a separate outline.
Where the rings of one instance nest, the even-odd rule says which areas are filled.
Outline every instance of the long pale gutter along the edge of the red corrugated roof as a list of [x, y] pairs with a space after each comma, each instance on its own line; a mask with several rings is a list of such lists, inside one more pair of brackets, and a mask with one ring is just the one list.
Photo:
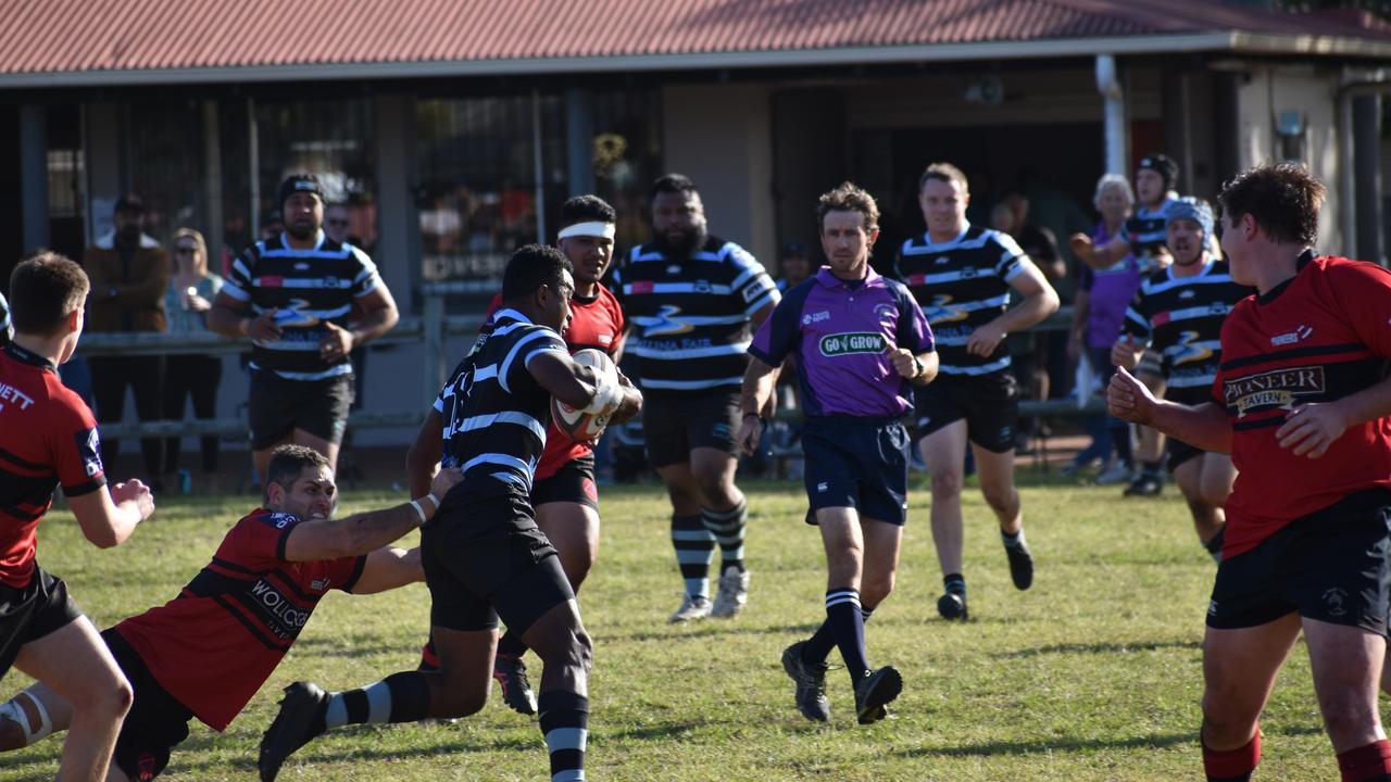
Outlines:
[[1228, 51], [1241, 54], [1317, 54], [1391, 60], [1391, 40], [1317, 35], [1269, 35], [1239, 31], [1182, 35], [1129, 35], [985, 43], [849, 46], [775, 51], [697, 51], [689, 54], [619, 54], [523, 57], [505, 60], [430, 60], [410, 63], [309, 63], [96, 71], [0, 74], [0, 89], [77, 86], [154, 86], [231, 82], [303, 82], [691, 71], [711, 68], [794, 68], [953, 63]]

